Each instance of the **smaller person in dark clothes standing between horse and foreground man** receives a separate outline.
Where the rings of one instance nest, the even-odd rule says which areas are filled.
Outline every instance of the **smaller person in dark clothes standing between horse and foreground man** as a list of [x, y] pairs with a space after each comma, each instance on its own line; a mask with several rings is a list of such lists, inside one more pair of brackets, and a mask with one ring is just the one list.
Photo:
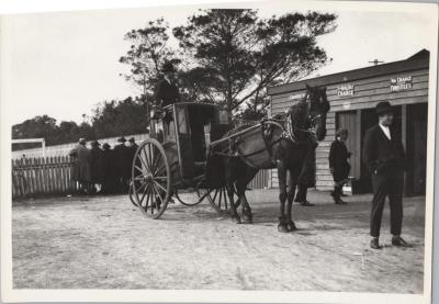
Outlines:
[[329, 169], [334, 178], [334, 191], [330, 194], [336, 204], [346, 204], [340, 196], [342, 185], [346, 183], [350, 171], [350, 164], [348, 162], [350, 153], [345, 145], [347, 138], [348, 131], [346, 128], [339, 130], [336, 134], [336, 140], [333, 142], [329, 149]]

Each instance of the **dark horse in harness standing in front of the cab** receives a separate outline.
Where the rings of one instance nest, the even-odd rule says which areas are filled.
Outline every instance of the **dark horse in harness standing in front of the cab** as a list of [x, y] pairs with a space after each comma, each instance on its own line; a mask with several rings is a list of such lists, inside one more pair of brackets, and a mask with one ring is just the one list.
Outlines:
[[[305, 161], [314, 154], [316, 140], [323, 140], [326, 136], [326, 114], [329, 111], [326, 87], [306, 88], [305, 97], [286, 113], [262, 121], [251, 128], [234, 128], [226, 135], [230, 137], [228, 146], [215, 147], [217, 151], [233, 155], [224, 158], [224, 165], [229, 201], [234, 202], [235, 189], [238, 195], [237, 203], [230, 204], [230, 215], [236, 223], [252, 222], [251, 209], [245, 195], [247, 184], [260, 169], [277, 168], [280, 188], [278, 229], [296, 229], [291, 216], [295, 188]], [[243, 132], [245, 128], [248, 131]], [[288, 172], [290, 179], [286, 185]], [[236, 211], [239, 204], [243, 209], [241, 218]]]

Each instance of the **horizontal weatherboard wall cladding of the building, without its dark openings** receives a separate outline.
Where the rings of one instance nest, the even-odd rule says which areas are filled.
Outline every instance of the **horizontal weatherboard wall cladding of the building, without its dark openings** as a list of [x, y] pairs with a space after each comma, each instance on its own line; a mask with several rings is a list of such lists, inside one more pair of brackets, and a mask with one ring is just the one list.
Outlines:
[[[427, 61], [428, 66], [428, 61]], [[337, 127], [337, 113], [345, 111], [357, 111], [359, 123], [361, 124], [361, 110], [372, 109], [381, 101], [390, 101], [393, 105], [413, 104], [413, 103], [427, 103], [428, 102], [428, 67], [426, 68], [425, 63], [421, 65], [410, 65], [410, 70], [402, 71], [401, 69], [391, 74], [372, 76], [369, 78], [362, 78], [361, 74], [351, 74], [358, 79], [349, 79], [349, 74], [338, 74], [331, 77], [324, 77], [325, 82], [319, 79], [309, 79], [309, 86], [314, 82], [320, 86], [327, 87], [327, 98], [330, 102], [330, 111], [327, 115], [327, 136], [325, 140], [320, 142], [316, 149], [316, 189], [317, 190], [330, 190], [334, 187], [334, 180], [329, 171], [329, 147], [333, 140], [335, 140], [335, 133]], [[418, 67], [418, 68], [416, 68]], [[380, 67], [381, 68], [381, 67]], [[392, 70], [392, 69], [390, 69]], [[409, 89], [403, 89], [399, 91], [391, 90], [391, 79], [412, 77], [412, 83]], [[293, 99], [297, 99], [302, 93], [305, 93], [305, 81], [301, 81], [302, 86], [291, 85], [291, 88], [297, 88], [296, 90], [288, 91], [288, 85], [285, 89], [282, 88], [270, 88], [269, 94], [271, 95], [271, 115], [284, 112], [291, 106]], [[353, 95], [351, 97], [339, 97], [338, 88], [342, 86], [353, 86]], [[279, 93], [277, 93], [279, 92]], [[356, 136], [361, 133], [357, 133]], [[350, 134], [354, 136], [354, 134]], [[358, 145], [361, 145], [361, 140], [358, 140]], [[358, 159], [361, 159], [359, 156]], [[359, 164], [351, 164], [352, 166], [359, 166]], [[277, 171], [273, 170], [270, 173], [271, 180], [269, 184], [273, 188], [279, 187]]]

